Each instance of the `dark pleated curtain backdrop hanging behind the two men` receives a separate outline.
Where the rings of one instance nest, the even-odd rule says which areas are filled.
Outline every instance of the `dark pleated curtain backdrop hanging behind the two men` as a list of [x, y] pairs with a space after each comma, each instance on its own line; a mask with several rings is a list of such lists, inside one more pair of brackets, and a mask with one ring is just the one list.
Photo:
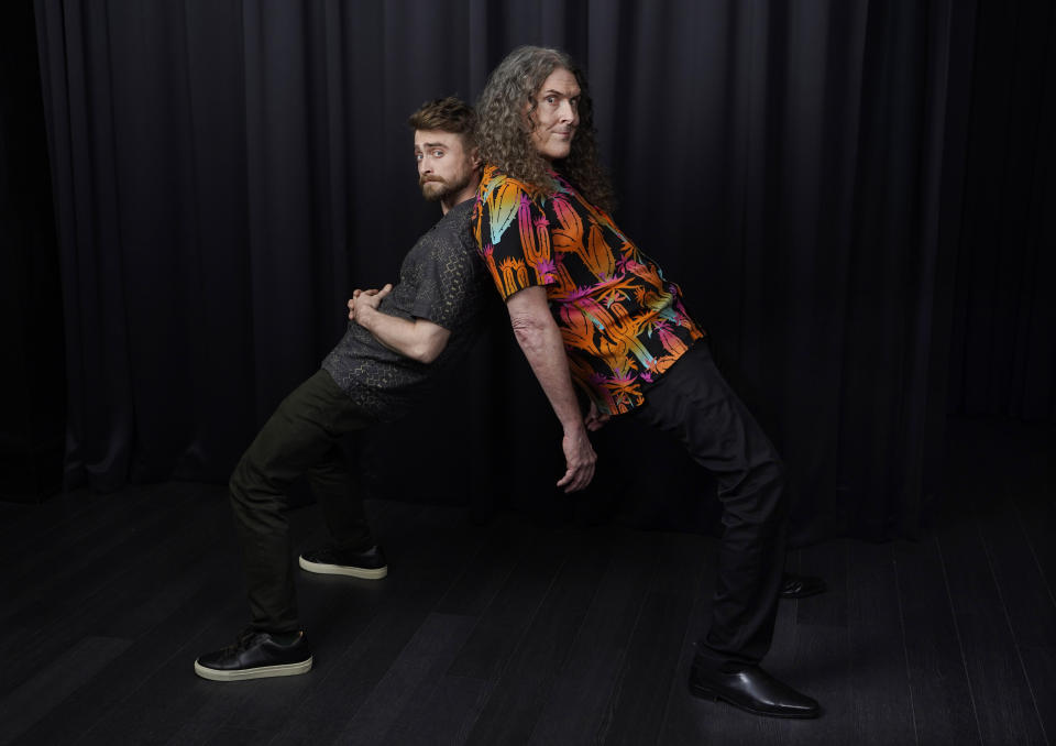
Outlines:
[[[68, 485], [224, 480], [349, 292], [392, 279], [438, 215], [406, 116], [474, 98], [520, 43], [587, 69], [617, 220], [783, 452], [799, 540], [916, 533], [947, 409], [1053, 418], [1050, 3], [34, 7]], [[557, 426], [502, 318], [405, 424], [354, 457], [381, 494], [713, 517], [711, 485], [626, 423], [588, 494], [551, 490]]]

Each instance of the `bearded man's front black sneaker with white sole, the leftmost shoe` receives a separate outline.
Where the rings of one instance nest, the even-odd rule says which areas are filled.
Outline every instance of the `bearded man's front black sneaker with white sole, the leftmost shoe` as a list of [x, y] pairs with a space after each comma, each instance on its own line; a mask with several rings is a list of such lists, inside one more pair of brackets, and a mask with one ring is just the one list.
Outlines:
[[213, 681], [242, 681], [297, 676], [311, 670], [311, 648], [305, 633], [288, 645], [256, 629], [244, 629], [233, 645], [207, 652], [195, 661], [195, 673]]

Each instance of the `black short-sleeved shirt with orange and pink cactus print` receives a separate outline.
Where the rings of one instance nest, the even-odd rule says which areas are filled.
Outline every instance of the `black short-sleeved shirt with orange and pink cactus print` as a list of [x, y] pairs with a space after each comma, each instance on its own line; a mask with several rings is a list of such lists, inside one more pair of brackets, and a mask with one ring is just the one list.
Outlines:
[[558, 174], [544, 194], [487, 166], [473, 234], [503, 299], [542, 285], [572, 379], [597, 408], [622, 414], [704, 333], [682, 292], [603, 210]]

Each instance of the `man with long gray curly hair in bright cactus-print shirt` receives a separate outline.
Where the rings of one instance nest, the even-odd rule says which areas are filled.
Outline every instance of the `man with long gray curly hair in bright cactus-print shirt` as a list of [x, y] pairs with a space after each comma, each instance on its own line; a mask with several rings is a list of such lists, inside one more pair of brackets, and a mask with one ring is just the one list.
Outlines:
[[[716, 370], [679, 286], [609, 217], [585, 76], [562, 52], [519, 47], [492, 73], [476, 108], [485, 167], [473, 231], [563, 428], [558, 486], [590, 483], [596, 456], [587, 430], [612, 416], [675, 435], [715, 473], [725, 525], [691, 691], [755, 714], [817, 716], [817, 702], [759, 667], [778, 599], [824, 589], [783, 575], [781, 461]], [[585, 418], [574, 385], [590, 401]]]

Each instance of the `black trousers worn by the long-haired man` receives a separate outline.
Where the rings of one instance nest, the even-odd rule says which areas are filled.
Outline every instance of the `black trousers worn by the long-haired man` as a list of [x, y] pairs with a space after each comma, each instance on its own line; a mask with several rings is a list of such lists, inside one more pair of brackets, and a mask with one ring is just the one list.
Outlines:
[[770, 649], [784, 568], [781, 460], [715, 367], [706, 342], [682, 355], [635, 412], [674, 435], [717, 478], [725, 529], [711, 628], [697, 652], [716, 663], [757, 663]]

